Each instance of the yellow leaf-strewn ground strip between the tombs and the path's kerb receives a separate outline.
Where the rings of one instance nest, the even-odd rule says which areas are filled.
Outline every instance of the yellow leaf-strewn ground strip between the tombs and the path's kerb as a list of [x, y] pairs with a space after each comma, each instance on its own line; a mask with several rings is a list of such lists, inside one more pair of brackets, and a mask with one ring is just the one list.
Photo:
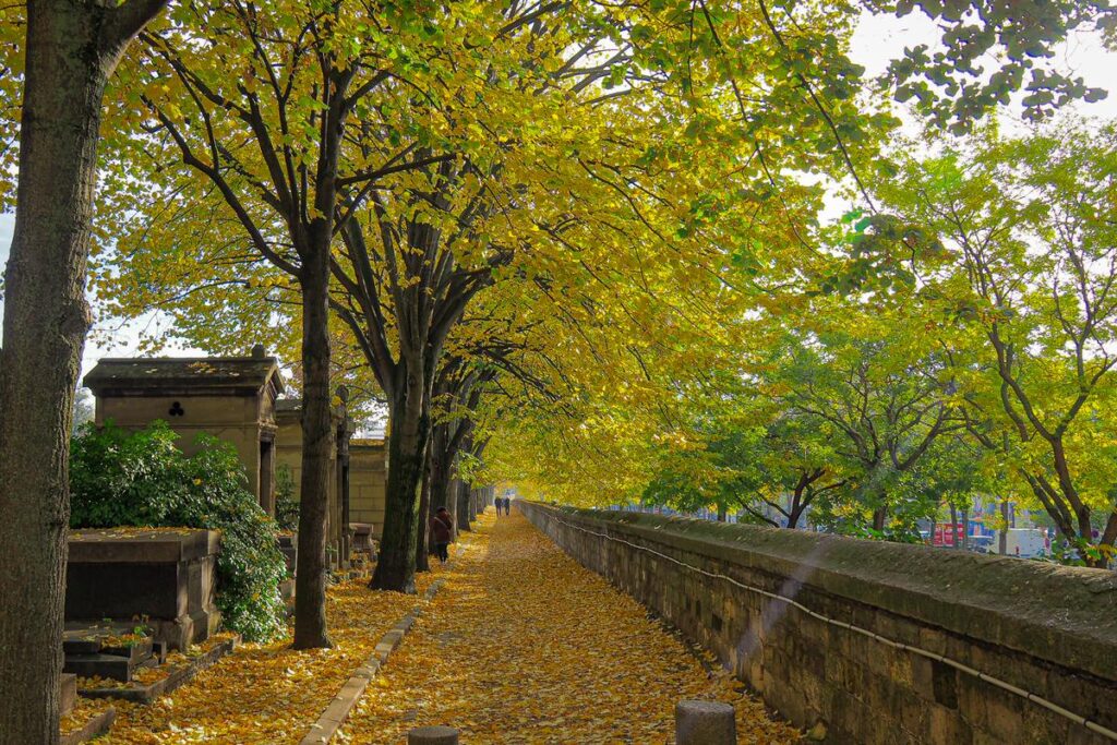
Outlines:
[[[422, 592], [438, 576], [418, 577]], [[151, 705], [113, 701], [116, 723], [98, 743], [297, 743], [380, 637], [419, 602], [378, 592], [366, 580], [330, 589], [326, 614], [334, 648], [296, 651], [290, 638], [246, 643], [192, 681]]]

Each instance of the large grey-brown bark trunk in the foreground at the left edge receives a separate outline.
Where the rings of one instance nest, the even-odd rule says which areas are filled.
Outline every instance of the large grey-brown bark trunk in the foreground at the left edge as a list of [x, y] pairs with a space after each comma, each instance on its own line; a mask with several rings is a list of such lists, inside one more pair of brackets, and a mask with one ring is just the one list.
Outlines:
[[0, 733], [58, 742], [69, 434], [89, 326], [86, 260], [105, 85], [162, 8], [27, 8], [16, 231], [0, 352]]

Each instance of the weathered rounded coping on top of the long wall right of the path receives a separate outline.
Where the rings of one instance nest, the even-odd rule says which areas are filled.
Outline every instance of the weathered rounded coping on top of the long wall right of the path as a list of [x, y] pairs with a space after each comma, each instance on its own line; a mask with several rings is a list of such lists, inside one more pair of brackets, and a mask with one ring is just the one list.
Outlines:
[[[792, 577], [831, 595], [1117, 680], [1117, 572], [646, 513], [525, 506], [582, 527], [607, 527]], [[793, 592], [783, 588], [784, 594]]]

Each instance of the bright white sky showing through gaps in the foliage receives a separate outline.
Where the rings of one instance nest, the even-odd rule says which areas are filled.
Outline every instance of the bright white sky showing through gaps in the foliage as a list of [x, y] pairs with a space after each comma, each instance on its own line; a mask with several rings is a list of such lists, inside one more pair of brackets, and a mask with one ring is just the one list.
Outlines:
[[[884, 71], [888, 61], [903, 54], [905, 46], [933, 41], [937, 37], [935, 27], [922, 15], [911, 13], [897, 19], [885, 16], [866, 16], [852, 40], [852, 58], [867, 68], [867, 75]], [[1095, 35], [1078, 34], [1063, 45], [1059, 64], [1066, 70], [1077, 71], [1089, 86], [1107, 87], [1108, 78], [1117, 69], [1117, 54], [1106, 51]], [[1117, 90], [1097, 104], [1077, 104], [1076, 111], [1101, 118], [1117, 118]], [[1008, 128], [1019, 121], [1015, 112], [1002, 115]], [[8, 247], [15, 220], [11, 214], [0, 214], [0, 267], [8, 261]], [[0, 300], [0, 322], [3, 319], [3, 302]], [[116, 318], [98, 318], [94, 334], [86, 342], [82, 372], [88, 372], [102, 356], [130, 356], [137, 346], [139, 329], [151, 323], [160, 323], [152, 314], [128, 324]], [[198, 354], [198, 350], [180, 348], [169, 354]]]

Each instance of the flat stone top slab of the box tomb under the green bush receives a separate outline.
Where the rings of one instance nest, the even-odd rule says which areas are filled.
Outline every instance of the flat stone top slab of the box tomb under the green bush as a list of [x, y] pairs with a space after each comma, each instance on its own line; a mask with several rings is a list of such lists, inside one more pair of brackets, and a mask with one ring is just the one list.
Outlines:
[[218, 531], [197, 528], [99, 528], [69, 533], [71, 562], [178, 563], [213, 555], [220, 547]]

